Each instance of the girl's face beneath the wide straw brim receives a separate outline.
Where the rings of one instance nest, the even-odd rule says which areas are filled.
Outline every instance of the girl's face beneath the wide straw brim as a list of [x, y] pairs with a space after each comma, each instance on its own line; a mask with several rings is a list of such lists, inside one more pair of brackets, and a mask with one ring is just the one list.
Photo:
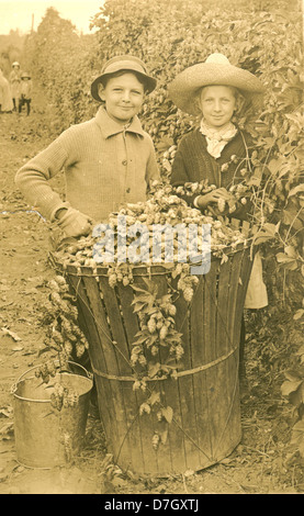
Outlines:
[[221, 128], [233, 117], [236, 97], [228, 86], [206, 86], [199, 97], [199, 105], [204, 121], [213, 128]]

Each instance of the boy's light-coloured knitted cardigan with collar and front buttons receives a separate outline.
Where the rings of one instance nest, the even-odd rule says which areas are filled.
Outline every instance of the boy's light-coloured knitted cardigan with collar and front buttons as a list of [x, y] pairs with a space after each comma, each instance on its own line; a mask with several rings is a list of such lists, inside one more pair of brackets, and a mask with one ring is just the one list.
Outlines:
[[145, 201], [149, 181], [159, 179], [151, 137], [138, 117], [123, 126], [103, 106], [93, 119], [64, 131], [16, 173], [26, 201], [50, 221], [65, 205], [48, 183], [61, 169], [66, 201], [95, 222], [105, 221], [121, 203]]

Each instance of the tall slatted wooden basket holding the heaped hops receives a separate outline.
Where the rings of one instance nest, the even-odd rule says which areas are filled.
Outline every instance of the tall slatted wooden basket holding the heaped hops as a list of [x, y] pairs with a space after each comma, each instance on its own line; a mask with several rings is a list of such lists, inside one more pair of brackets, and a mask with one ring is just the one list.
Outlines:
[[[227, 457], [241, 437], [238, 390], [238, 345], [246, 290], [251, 271], [250, 249], [241, 248], [200, 277], [191, 304], [176, 301], [177, 329], [183, 334], [183, 368], [177, 379], [148, 381], [148, 392], [161, 392], [173, 417], [165, 444], [150, 414], [139, 415], [147, 393], [135, 391], [132, 343], [139, 330], [133, 289], [109, 285], [106, 269], [74, 266], [65, 276], [76, 293], [80, 325], [89, 341], [99, 408], [109, 451], [124, 470], [168, 475], [200, 470]], [[60, 269], [60, 265], [56, 263]], [[167, 293], [168, 270], [138, 267], [134, 284], [151, 277]], [[97, 281], [98, 277], [98, 281]]]

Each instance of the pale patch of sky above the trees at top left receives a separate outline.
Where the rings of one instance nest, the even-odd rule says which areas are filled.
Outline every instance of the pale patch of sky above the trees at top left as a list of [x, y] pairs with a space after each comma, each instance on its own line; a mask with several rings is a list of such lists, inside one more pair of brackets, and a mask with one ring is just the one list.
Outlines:
[[55, 8], [60, 18], [70, 20], [78, 31], [91, 34], [90, 18], [99, 12], [103, 0], [0, 0], [0, 35], [9, 34], [11, 30], [19, 29], [27, 33], [32, 27], [34, 14], [34, 31], [37, 30], [47, 8]]

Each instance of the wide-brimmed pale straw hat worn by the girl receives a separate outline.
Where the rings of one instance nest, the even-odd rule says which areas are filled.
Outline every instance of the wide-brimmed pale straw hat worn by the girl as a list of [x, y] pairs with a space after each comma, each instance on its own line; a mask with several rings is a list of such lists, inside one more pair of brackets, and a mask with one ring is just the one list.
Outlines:
[[[204, 63], [198, 63], [181, 71], [168, 86], [168, 96], [185, 113], [201, 114], [196, 97], [205, 86], [232, 86], [237, 88], [248, 103], [258, 105], [264, 92], [262, 82], [250, 71], [230, 65], [223, 54], [211, 54]], [[246, 102], [246, 103], [247, 103]]]

